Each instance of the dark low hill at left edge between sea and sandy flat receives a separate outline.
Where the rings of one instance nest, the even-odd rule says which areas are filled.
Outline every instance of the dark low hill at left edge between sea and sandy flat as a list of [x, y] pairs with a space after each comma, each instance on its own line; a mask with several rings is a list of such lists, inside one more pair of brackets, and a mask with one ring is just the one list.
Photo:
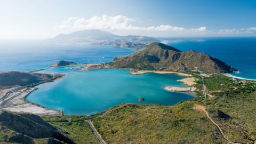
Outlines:
[[0, 73], [0, 87], [1, 86], [34, 86], [42, 82], [51, 81], [61, 74], [39, 74], [39, 73], [23, 73], [19, 71], [7, 71]]

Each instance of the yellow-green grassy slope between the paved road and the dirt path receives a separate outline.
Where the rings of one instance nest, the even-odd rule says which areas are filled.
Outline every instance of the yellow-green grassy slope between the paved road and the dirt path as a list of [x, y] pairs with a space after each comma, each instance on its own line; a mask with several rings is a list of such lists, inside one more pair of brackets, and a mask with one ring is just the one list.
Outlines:
[[172, 107], [130, 104], [93, 123], [107, 143], [226, 142], [206, 115], [193, 109], [195, 103]]

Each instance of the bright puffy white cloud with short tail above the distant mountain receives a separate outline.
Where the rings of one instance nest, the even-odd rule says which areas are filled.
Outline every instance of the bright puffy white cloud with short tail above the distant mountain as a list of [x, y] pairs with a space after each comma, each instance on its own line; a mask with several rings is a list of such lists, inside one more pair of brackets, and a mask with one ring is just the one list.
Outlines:
[[124, 15], [109, 16], [103, 15], [102, 17], [94, 16], [90, 19], [70, 17], [66, 21], [62, 21], [61, 25], [56, 26], [56, 28], [69, 28], [74, 30], [81, 29], [101, 29], [101, 30], [132, 30], [136, 32], [140, 31], [151, 31], [151, 33], [156, 33], [156, 31], [167, 31], [172, 34], [196, 34], [204, 33], [206, 27], [199, 28], [184, 28], [175, 27], [170, 25], [160, 25], [160, 26], [150, 26], [150, 27], [138, 27], [133, 26], [131, 23], [137, 22], [135, 19], [127, 18]]

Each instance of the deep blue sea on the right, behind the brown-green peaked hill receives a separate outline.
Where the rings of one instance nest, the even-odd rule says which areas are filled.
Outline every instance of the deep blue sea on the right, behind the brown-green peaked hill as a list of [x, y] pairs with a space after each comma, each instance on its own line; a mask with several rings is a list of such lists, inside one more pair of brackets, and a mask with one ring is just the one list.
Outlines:
[[181, 51], [205, 52], [239, 70], [237, 77], [256, 79], [256, 37], [161, 38]]

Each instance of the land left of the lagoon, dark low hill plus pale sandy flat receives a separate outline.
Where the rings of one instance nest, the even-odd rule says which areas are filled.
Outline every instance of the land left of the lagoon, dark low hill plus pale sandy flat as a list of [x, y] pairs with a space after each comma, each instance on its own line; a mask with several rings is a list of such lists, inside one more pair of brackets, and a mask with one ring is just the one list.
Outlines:
[[0, 109], [37, 115], [62, 115], [60, 110], [47, 109], [25, 100], [30, 92], [36, 90], [34, 86], [52, 82], [62, 76], [64, 75], [22, 73], [19, 71], [0, 73]]

